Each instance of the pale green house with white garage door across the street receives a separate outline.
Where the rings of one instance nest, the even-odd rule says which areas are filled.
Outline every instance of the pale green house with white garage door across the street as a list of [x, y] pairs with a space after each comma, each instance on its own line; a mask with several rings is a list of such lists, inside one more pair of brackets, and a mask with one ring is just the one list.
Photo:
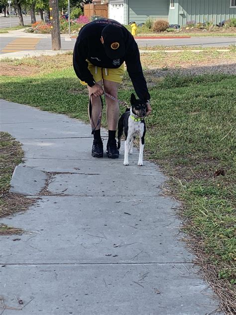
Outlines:
[[236, 17], [236, 0], [109, 0], [109, 17], [122, 24], [143, 23], [148, 17], [179, 25], [206, 20], [218, 24]]

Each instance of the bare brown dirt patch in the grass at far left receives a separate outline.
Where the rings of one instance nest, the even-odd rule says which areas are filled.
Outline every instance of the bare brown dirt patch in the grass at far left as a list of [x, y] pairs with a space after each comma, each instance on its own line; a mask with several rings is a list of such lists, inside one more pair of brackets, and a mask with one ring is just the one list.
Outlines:
[[37, 67], [18, 65], [12, 66], [8, 63], [1, 63], [1, 75], [2, 76], [21, 76], [28, 77], [30, 75], [38, 73]]

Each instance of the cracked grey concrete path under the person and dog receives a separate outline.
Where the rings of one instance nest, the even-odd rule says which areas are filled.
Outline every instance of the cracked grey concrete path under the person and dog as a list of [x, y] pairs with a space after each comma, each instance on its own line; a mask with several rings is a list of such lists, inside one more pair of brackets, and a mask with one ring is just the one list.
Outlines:
[[[23, 144], [11, 191], [38, 200], [0, 221], [3, 315], [204, 315], [218, 307], [180, 241], [178, 204], [137, 152], [91, 156], [91, 128], [64, 115], [1, 101], [1, 130]], [[148, 132], [148, 131], [147, 131]], [[107, 132], [103, 131], [106, 147]], [[0, 306], [1, 307], [1, 306]], [[1, 312], [1, 309], [0, 309]], [[216, 313], [211, 313], [216, 314]], [[218, 313], [219, 314], [219, 313]]]

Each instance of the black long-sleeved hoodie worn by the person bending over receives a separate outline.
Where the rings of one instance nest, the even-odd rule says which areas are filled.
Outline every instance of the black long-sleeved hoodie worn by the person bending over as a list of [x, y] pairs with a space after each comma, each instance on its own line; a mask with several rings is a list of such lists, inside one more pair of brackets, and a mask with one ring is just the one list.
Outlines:
[[[104, 46], [100, 40], [103, 28], [109, 24], [121, 27], [125, 45], [125, 54], [121, 59], [110, 59], [106, 55]], [[100, 19], [90, 22], [82, 27], [77, 37], [73, 54], [74, 70], [81, 81], [85, 81], [89, 86], [93, 86], [95, 81], [88, 69], [88, 62], [86, 60], [89, 60], [97, 67], [108, 69], [119, 68], [125, 62], [128, 75], [138, 98], [144, 101], [150, 99], [142, 72], [137, 43], [131, 33], [117, 21]]]

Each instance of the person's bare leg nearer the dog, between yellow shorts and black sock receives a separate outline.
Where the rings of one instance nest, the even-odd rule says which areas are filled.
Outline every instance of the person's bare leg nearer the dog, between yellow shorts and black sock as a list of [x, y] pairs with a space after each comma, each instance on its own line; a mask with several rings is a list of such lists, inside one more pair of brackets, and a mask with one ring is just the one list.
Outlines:
[[[118, 87], [119, 83], [103, 80], [104, 90], [108, 94], [118, 97]], [[119, 118], [119, 105], [118, 102], [110, 99], [106, 96], [107, 102], [107, 120], [108, 120], [108, 129], [117, 130], [118, 118]]]

